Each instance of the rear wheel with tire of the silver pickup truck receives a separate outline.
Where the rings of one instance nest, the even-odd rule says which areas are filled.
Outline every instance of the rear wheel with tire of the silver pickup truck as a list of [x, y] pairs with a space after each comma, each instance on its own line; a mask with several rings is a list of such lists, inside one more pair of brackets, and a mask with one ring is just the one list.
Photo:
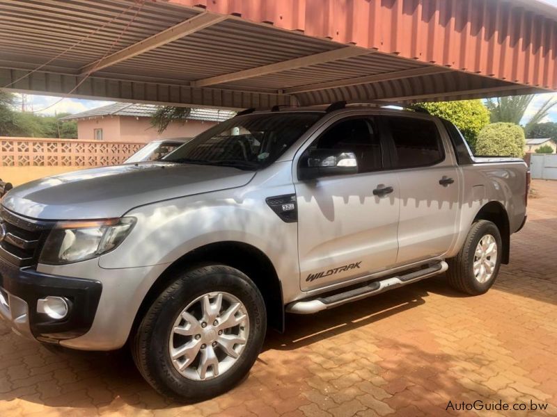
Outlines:
[[[489, 236], [491, 236], [491, 238], [489, 238]], [[491, 253], [489, 256], [485, 257], [485, 263], [483, 263], [484, 265], [489, 265], [492, 262], [494, 263], [490, 275], [487, 273], [489, 268], [484, 267], [486, 271], [485, 275], [482, 274], [481, 269], [479, 272], [474, 270], [475, 260], [480, 264], [482, 263], [481, 260], [483, 258], [478, 257], [476, 259], [476, 249], [478, 248], [478, 243], [480, 243], [482, 239], [485, 239], [483, 240], [484, 244], [496, 244], [496, 254]], [[491, 247], [491, 245], [484, 246]], [[481, 253], [481, 251], [482, 250], [478, 253]], [[485, 253], [487, 254], [487, 251]], [[460, 252], [454, 258], [447, 260], [449, 285], [455, 288], [455, 290], [469, 295], [486, 293], [494, 284], [497, 274], [499, 273], [502, 253], [503, 245], [499, 228], [496, 227], [494, 223], [487, 220], [473, 222]]]

